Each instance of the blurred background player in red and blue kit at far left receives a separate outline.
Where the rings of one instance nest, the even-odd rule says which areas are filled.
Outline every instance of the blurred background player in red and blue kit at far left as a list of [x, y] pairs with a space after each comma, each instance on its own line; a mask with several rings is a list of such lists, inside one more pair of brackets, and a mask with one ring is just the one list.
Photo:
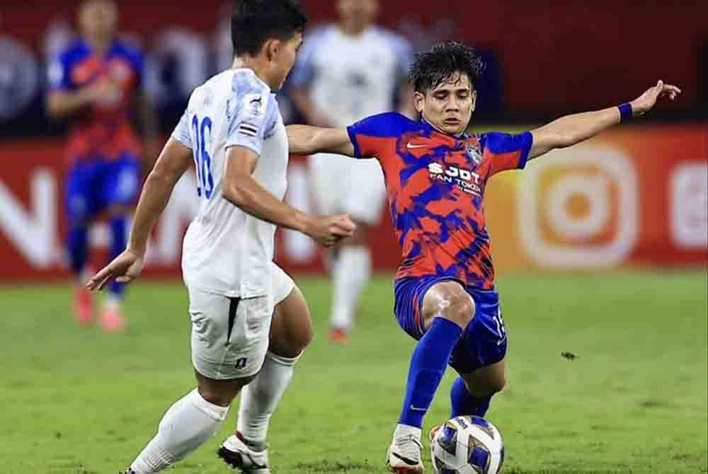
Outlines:
[[[93, 323], [93, 301], [82, 284], [89, 226], [105, 215], [110, 224], [110, 258], [125, 250], [127, 221], [140, 182], [141, 145], [135, 115], [152, 134], [156, 118], [142, 94], [143, 56], [116, 36], [118, 8], [110, 0], [81, 4], [82, 37], [59, 54], [49, 69], [47, 110], [72, 122], [66, 156], [67, 247], [75, 279], [74, 308], [81, 324]], [[84, 279], [85, 281], [85, 279]], [[101, 326], [120, 330], [123, 285], [113, 282], [103, 304]]]

